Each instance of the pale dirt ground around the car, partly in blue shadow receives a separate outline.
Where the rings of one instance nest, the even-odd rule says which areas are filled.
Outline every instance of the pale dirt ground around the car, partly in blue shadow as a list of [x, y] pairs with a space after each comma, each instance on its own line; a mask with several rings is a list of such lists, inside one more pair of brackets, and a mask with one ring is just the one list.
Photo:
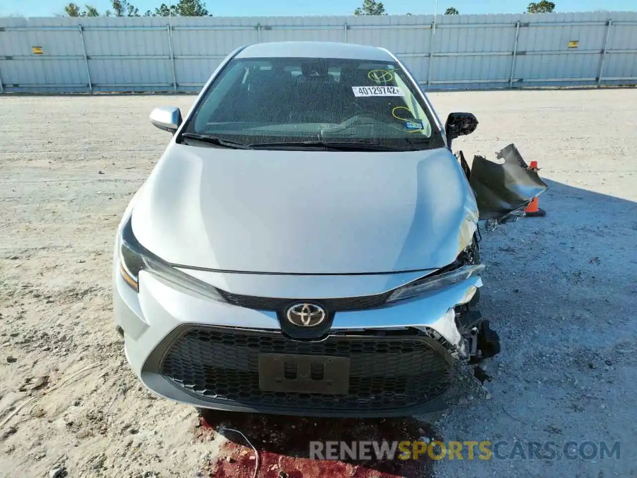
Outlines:
[[[547, 217], [483, 231], [483, 314], [503, 342], [501, 354], [485, 365], [492, 380], [481, 385], [462, 369], [447, 410], [397, 423], [389, 434], [505, 440], [501, 458], [520, 440], [524, 452], [510, 460], [468, 460], [465, 453], [464, 460], [389, 471], [478, 478], [637, 475], [637, 90], [430, 98], [441, 119], [469, 111], [480, 121], [454, 150], [493, 158], [514, 142], [527, 161], [539, 162], [550, 186], [540, 197]], [[207, 433], [196, 410], [141, 387], [112, 326], [115, 228], [169, 140], [151, 126], [148, 113], [155, 105], [187, 110], [193, 100], [0, 96], [1, 476], [208, 476], [234, 446], [245, 461], [227, 459], [241, 467], [223, 475], [252, 477], [254, 452], [245, 440], [232, 432], [226, 433], [231, 441]], [[291, 430], [292, 422], [282, 427], [276, 419], [257, 419], [260, 450], [277, 441], [264, 438], [271, 430]], [[258, 438], [257, 426], [245, 417], [208, 418], [215, 420], [251, 441]], [[367, 431], [346, 424], [354, 436], [369, 431], [369, 423]], [[321, 439], [316, 430], [323, 427], [313, 426], [308, 440]], [[294, 440], [303, 444], [302, 437]], [[555, 442], [559, 458], [529, 456], [528, 441]], [[569, 441], [620, 442], [620, 458], [590, 456], [589, 445], [590, 460], [568, 460], [559, 451]], [[288, 451], [268, 453], [278, 453], [282, 463]], [[262, 459], [273, 463], [269, 455]], [[375, 469], [331, 468], [324, 475], [380, 476]], [[268, 465], [259, 476], [285, 476], [277, 470]]]

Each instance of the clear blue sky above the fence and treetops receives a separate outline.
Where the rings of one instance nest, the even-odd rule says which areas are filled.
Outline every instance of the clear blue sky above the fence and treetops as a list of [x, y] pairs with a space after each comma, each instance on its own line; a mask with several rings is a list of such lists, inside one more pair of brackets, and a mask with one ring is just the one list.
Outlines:
[[[173, 0], [175, 3], [178, 0]], [[555, 11], [596, 11], [596, 10], [635, 10], [635, 0], [553, 0]], [[168, 0], [132, 0], [141, 12], [154, 10]], [[49, 17], [62, 13], [68, 0], [0, 0], [0, 16]], [[75, 0], [83, 6], [88, 3], [99, 11], [110, 8], [109, 0]], [[284, 16], [284, 15], [351, 15], [362, 0], [207, 0], [206, 6], [215, 17], [238, 16]], [[385, 0], [385, 10], [390, 15], [407, 12], [415, 14], [434, 13], [434, 0]], [[505, 6], [506, 4], [506, 6]], [[448, 6], [454, 6], [460, 13], [521, 13], [526, 10], [529, 0], [438, 0], [438, 13]]]

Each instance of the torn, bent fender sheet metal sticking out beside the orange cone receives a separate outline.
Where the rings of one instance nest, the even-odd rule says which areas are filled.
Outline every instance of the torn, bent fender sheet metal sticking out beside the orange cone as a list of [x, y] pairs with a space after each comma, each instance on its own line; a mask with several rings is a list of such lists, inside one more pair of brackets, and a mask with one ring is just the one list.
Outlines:
[[476, 194], [480, 219], [508, 222], [523, 213], [533, 198], [548, 189], [537, 171], [529, 170], [515, 145], [503, 148], [497, 158], [504, 164], [493, 163], [475, 156], [471, 164], [469, 184]]

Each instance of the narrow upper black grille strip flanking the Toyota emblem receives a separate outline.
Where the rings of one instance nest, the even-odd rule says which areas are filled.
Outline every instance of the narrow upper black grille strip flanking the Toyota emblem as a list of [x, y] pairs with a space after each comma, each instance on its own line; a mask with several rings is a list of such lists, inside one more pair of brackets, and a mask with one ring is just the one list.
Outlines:
[[[240, 294], [231, 294], [225, 291], [219, 292], [224, 296], [224, 299], [231, 304], [238, 305], [240, 307], [254, 308], [257, 310], [281, 311], [294, 303], [303, 302], [303, 299], [244, 296]], [[329, 312], [338, 312], [340, 310], [364, 310], [367, 308], [381, 307], [385, 301], [387, 301], [387, 298], [389, 298], [391, 293], [392, 291], [373, 296], [317, 299], [311, 301], [318, 301], [320, 305], [329, 310]]]

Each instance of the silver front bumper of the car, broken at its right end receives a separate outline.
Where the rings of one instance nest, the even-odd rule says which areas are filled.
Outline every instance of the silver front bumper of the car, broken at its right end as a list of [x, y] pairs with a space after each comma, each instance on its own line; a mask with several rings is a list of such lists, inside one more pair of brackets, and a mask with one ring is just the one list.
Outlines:
[[[304, 416], [406, 416], [440, 409], [464, 339], [454, 306], [473, 277], [418, 300], [336, 312], [327, 337], [292, 340], [276, 312], [194, 296], [147, 272], [135, 293], [113, 270], [125, 353], [157, 395], [196, 407]], [[262, 391], [261, 354], [347, 358], [345, 394]]]

